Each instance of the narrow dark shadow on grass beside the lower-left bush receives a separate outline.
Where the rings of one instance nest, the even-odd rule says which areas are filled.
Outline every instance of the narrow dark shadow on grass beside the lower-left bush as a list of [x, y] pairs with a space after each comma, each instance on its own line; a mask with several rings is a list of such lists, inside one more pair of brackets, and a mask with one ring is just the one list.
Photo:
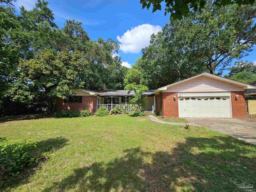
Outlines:
[[22, 170], [15, 178], [8, 181], [2, 181], [2, 186], [0, 183], [0, 189], [2, 187], [3, 190], [8, 190], [10, 188], [15, 188], [19, 184], [27, 183], [29, 178], [41, 168], [42, 163], [48, 159], [48, 157], [45, 156], [45, 153], [57, 151], [66, 146], [67, 142], [68, 140], [63, 137], [51, 138], [37, 142], [36, 149], [31, 152], [33, 156], [36, 156], [36, 161]]

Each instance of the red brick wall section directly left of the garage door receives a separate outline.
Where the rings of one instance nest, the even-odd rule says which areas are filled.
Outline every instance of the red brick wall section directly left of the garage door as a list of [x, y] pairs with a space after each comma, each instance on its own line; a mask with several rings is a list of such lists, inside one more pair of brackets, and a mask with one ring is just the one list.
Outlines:
[[178, 92], [162, 92], [162, 116], [179, 117]]

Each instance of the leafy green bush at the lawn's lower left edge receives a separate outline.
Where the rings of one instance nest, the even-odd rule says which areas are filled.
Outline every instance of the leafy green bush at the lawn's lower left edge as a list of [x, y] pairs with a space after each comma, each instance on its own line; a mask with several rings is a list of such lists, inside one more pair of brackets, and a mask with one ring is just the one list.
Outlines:
[[34, 162], [35, 157], [31, 155], [36, 148], [35, 143], [20, 142], [8, 144], [5, 138], [0, 138], [0, 179], [16, 176], [19, 172]]

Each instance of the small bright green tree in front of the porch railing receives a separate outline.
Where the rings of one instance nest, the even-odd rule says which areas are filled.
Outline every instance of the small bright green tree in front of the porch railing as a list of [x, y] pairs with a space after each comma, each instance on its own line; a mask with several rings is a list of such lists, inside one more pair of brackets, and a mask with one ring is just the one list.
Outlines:
[[129, 90], [128, 94], [130, 94], [131, 91], [134, 91], [134, 96], [132, 96], [130, 102], [140, 106], [140, 111], [144, 111], [147, 103], [146, 96], [144, 96], [144, 93], [148, 90], [148, 87], [144, 85], [136, 85], [135, 83], [131, 83], [126, 85], [124, 89]]

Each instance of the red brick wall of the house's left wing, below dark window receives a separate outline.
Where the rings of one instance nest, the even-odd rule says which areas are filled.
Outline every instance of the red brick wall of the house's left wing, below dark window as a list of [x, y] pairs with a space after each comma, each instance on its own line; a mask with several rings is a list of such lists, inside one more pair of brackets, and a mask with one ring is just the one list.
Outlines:
[[82, 96], [82, 103], [64, 103], [64, 100], [58, 98], [59, 111], [81, 111], [90, 110], [90, 114], [96, 112], [97, 96]]

